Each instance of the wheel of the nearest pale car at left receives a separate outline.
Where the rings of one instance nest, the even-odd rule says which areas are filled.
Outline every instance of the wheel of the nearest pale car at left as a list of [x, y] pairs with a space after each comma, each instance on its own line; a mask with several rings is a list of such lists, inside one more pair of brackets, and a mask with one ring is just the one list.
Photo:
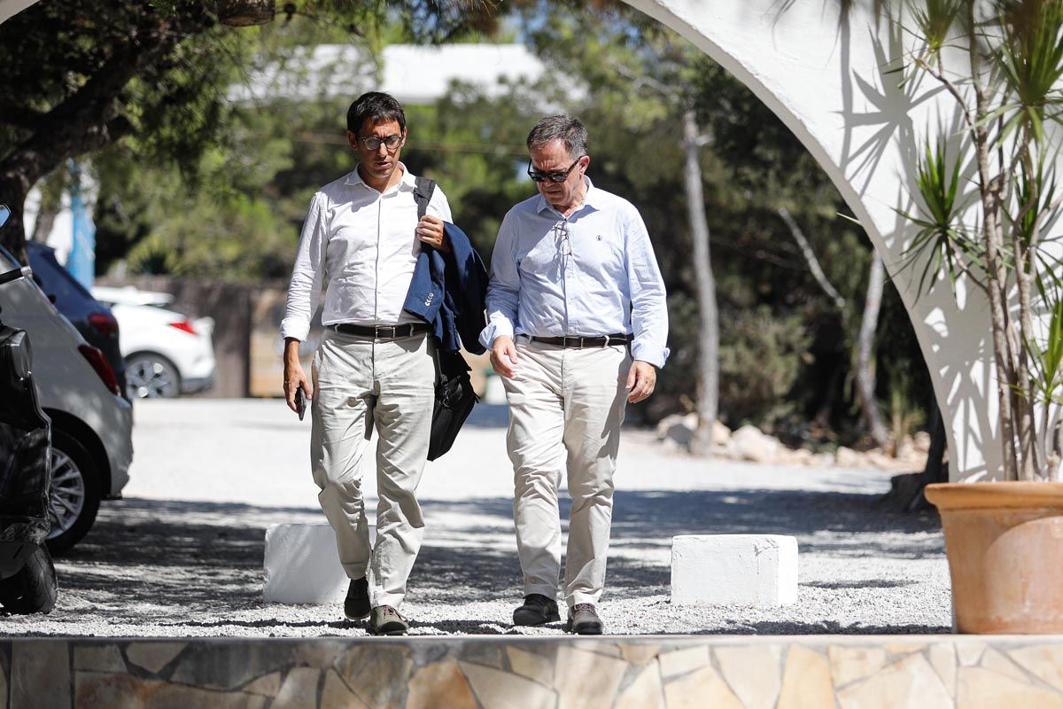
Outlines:
[[48, 548], [60, 554], [88, 534], [100, 509], [100, 473], [88, 451], [62, 431], [52, 432], [52, 486], [48, 491]]

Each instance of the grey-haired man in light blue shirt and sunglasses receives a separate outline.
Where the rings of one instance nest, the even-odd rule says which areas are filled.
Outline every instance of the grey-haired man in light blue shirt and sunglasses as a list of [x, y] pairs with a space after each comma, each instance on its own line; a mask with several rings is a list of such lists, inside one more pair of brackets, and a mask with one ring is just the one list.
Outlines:
[[510, 209], [499, 230], [480, 335], [509, 401], [506, 443], [525, 594], [513, 623], [560, 620], [563, 446], [572, 497], [566, 629], [601, 635], [596, 604], [620, 425], [626, 404], [653, 393], [668, 358], [664, 284], [638, 210], [585, 174], [591, 158], [579, 120], [543, 118], [527, 148], [539, 193]]

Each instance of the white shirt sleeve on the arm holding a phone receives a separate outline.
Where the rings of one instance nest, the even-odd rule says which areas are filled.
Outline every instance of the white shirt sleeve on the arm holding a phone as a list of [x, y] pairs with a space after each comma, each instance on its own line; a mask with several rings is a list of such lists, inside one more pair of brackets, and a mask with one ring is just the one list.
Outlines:
[[321, 281], [325, 270], [325, 247], [327, 246], [327, 229], [325, 215], [325, 196], [318, 192], [310, 200], [310, 208], [303, 222], [303, 232], [299, 236], [299, 249], [296, 251], [296, 265], [291, 270], [291, 282], [288, 284], [288, 300], [284, 308], [284, 320], [281, 321], [281, 336], [306, 340], [310, 332], [310, 318], [318, 309], [321, 300]]

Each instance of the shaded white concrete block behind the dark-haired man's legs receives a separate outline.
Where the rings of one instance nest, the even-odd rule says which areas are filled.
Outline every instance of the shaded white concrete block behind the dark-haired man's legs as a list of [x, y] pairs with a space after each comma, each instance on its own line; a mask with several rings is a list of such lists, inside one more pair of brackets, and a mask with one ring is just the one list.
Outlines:
[[[370, 543], [376, 528], [369, 527]], [[341, 603], [348, 578], [328, 524], [271, 524], [266, 528], [266, 603]]]

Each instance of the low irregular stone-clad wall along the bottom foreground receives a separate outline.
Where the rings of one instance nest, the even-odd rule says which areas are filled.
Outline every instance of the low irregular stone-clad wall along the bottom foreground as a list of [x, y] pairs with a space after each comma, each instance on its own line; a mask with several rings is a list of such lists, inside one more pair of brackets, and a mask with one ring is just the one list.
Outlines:
[[11, 707], [1063, 707], [1063, 638], [0, 642]]

